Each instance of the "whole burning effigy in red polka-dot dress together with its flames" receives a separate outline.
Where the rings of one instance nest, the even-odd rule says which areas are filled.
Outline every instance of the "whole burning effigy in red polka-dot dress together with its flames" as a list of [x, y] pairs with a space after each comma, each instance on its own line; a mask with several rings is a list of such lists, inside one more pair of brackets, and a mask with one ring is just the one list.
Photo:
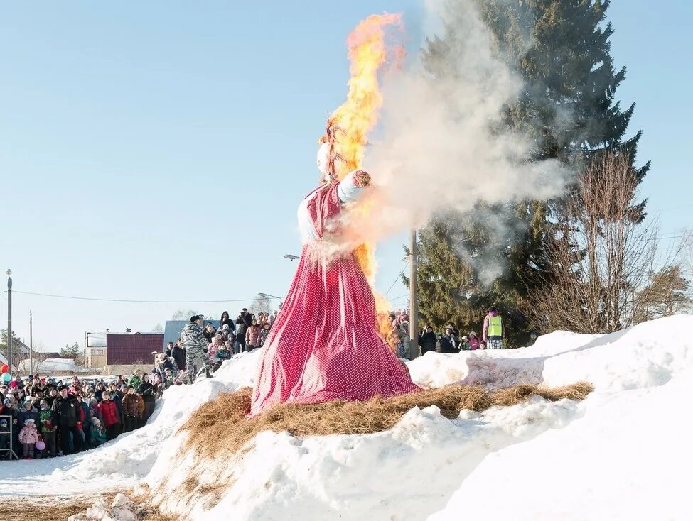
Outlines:
[[320, 185], [299, 205], [303, 248], [289, 294], [258, 364], [251, 414], [285, 402], [369, 400], [419, 390], [388, 345], [387, 302], [374, 295], [374, 245], [360, 243], [350, 216], [375, 198], [361, 170], [367, 135], [382, 106], [378, 72], [399, 47], [385, 44], [397, 14], [374, 15], [349, 35], [347, 101], [319, 140]]

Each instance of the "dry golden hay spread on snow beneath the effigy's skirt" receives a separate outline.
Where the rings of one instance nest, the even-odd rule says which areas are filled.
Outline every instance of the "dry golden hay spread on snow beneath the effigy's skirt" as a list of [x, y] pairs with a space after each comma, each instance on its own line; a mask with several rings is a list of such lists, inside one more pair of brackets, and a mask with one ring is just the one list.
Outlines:
[[[181, 430], [189, 433], [188, 448], [211, 458], [227, 451], [235, 454], [262, 431], [288, 431], [296, 437], [367, 434], [390, 429], [412, 407], [423, 409], [436, 405], [445, 417], [456, 418], [463, 409], [481, 412], [494, 405], [516, 405], [526, 402], [532, 395], [551, 401], [584, 400], [592, 390], [593, 386], [586, 382], [559, 388], [523, 383], [500, 390], [485, 390], [476, 385], [446, 385], [392, 397], [378, 396], [367, 402], [281, 404], [248, 418], [252, 389], [242, 388], [202, 405]], [[223, 442], [211, 443], [210, 440]]]

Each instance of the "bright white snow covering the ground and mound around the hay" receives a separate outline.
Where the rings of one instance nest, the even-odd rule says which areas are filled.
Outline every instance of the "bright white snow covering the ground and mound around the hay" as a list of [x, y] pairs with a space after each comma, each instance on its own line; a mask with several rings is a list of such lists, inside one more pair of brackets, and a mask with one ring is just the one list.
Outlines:
[[513, 351], [428, 353], [409, 363], [422, 385], [588, 380], [596, 390], [580, 403], [537, 398], [454, 421], [414, 409], [378, 434], [264, 432], [242, 457], [196, 460], [175, 432], [200, 403], [252, 385], [252, 353], [166, 391], [148, 426], [101, 449], [2, 464], [0, 495], [144, 478], [163, 510], [195, 520], [689, 519], [692, 330], [693, 317], [679, 316], [608, 336], [556, 332]]

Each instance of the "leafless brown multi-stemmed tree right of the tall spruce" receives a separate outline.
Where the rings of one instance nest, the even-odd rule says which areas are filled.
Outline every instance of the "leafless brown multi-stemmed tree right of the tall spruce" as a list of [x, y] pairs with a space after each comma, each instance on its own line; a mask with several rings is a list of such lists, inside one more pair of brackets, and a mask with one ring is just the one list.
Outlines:
[[556, 223], [552, 268], [528, 301], [539, 329], [608, 333], [676, 312], [666, 302], [686, 289], [677, 253], [657, 252], [657, 223], [640, 220], [638, 199], [627, 155], [597, 155], [582, 172]]

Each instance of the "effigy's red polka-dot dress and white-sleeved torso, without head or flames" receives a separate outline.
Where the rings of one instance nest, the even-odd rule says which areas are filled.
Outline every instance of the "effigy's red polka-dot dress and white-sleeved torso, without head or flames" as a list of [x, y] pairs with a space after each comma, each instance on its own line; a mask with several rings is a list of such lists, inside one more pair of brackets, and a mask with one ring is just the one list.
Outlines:
[[261, 353], [252, 415], [285, 402], [419, 390], [380, 336], [373, 293], [355, 256], [331, 247], [343, 204], [363, 190], [360, 173], [319, 187], [299, 206], [301, 260]]

